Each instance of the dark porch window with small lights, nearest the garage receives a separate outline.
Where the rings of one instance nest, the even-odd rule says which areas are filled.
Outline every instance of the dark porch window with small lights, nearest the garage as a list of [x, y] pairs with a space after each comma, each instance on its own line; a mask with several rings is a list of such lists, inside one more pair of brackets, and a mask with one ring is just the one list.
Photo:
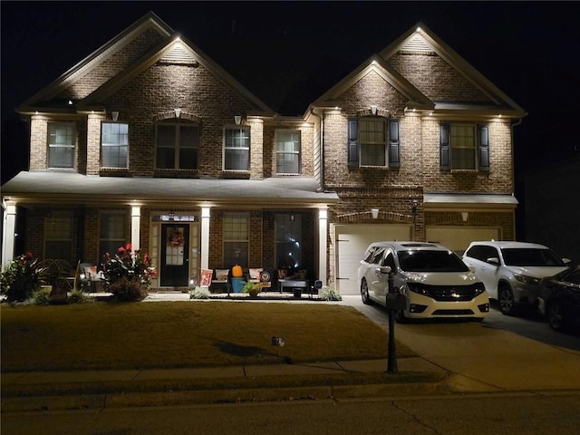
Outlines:
[[300, 269], [302, 216], [293, 213], [275, 215], [275, 258], [278, 268]]

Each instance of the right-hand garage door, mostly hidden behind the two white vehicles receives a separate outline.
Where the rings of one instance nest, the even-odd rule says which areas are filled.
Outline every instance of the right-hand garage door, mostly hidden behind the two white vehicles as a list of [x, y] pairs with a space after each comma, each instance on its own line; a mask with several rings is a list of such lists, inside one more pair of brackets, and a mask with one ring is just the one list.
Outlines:
[[427, 240], [438, 242], [462, 255], [474, 240], [501, 240], [499, 228], [482, 227], [427, 227]]

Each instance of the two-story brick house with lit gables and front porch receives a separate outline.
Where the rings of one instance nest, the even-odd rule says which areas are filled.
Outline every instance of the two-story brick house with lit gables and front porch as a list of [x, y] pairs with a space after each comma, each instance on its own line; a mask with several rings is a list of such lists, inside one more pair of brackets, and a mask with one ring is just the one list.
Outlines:
[[428, 29], [305, 109], [275, 113], [147, 14], [18, 108], [31, 158], [2, 189], [3, 264], [24, 221], [20, 246], [73, 264], [131, 241], [152, 288], [290, 262], [356, 294], [370, 241], [515, 237], [526, 113]]

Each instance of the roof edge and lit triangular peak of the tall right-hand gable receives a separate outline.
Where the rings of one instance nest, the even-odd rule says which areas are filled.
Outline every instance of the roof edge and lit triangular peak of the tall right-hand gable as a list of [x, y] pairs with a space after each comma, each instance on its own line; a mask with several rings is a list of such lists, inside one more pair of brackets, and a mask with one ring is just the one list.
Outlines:
[[[520, 118], [527, 113], [516, 102], [511, 100], [504, 92], [500, 91], [496, 85], [490, 82], [483, 74], [479, 73], [470, 63], [456, 53], [447, 43], [444, 43], [436, 34], [434, 34], [425, 24], [418, 23], [411, 27], [399, 39], [388, 45], [379, 53], [379, 56], [385, 61], [399, 52], [434, 52], [440, 58], [448, 63], [457, 73], [461, 74], [468, 82], [475, 86], [479, 91], [488, 96], [493, 102], [496, 111], [501, 110], [502, 114]], [[491, 109], [489, 105], [480, 106], [457, 104], [455, 108], [466, 109], [471, 106], [474, 109]], [[436, 109], [453, 109], [451, 103], [436, 104]]]

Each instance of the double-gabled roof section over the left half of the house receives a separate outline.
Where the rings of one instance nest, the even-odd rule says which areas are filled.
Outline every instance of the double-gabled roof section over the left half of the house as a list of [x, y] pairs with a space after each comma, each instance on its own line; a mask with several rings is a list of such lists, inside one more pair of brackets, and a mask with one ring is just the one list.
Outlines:
[[[146, 48], [144, 53], [134, 62], [121, 68], [121, 71], [111, 73], [111, 77], [97, 83], [95, 89], [92, 89], [87, 95], [74, 104], [74, 102], [59, 101], [56, 97], [61, 92], [73, 86], [82, 77], [90, 73], [92, 69], [99, 64], [110, 59], [114, 53], [119, 53], [123, 47], [130, 43], [135, 43], [138, 38], [143, 38], [144, 34], [153, 30], [160, 35], [160, 42]], [[157, 62], [165, 63], [189, 63], [201, 65], [208, 69], [218, 80], [236, 92], [240, 98], [253, 107], [256, 113], [271, 116], [274, 111], [264, 102], [261, 102], [247, 88], [242, 86], [236, 79], [223, 70], [217, 63], [214, 63], [205, 53], [201, 52], [197, 46], [190, 43], [187, 39], [175, 33], [169, 25], [165, 24], [160, 18], [150, 12], [144, 15], [135, 24], [132, 24], [125, 31], [121, 32], [101, 48], [91, 53], [80, 63], [77, 63], [66, 73], [63, 73], [58, 79], [43, 88], [40, 92], [24, 102], [18, 111], [21, 113], [31, 113], [44, 108], [48, 111], [69, 111], [75, 113], [78, 111], [102, 111], [102, 105], [99, 103], [118, 90], [123, 84], [130, 82], [139, 73], [142, 73], [151, 65]]]

